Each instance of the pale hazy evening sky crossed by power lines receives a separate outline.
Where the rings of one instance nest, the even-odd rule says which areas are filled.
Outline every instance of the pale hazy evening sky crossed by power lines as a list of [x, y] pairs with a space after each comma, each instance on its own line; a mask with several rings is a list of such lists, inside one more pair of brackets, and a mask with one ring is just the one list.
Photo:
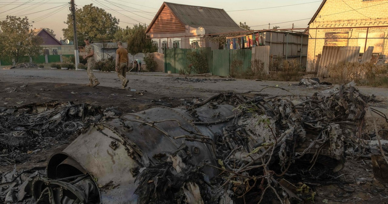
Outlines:
[[[29, 22], [34, 21], [33, 28], [53, 29], [55, 37], [63, 39], [62, 29], [67, 27], [64, 21], [70, 13], [68, 2], [69, 0], [0, 0], [0, 21], [3, 21], [7, 15], [27, 16]], [[224, 9], [237, 24], [246, 22], [251, 29], [256, 30], [268, 29], [268, 23], [271, 24], [270, 28], [280, 26], [282, 29], [287, 29], [291, 28], [293, 23], [296, 28], [306, 28], [322, 1], [168, 0], [167, 2]], [[163, 0], [75, 0], [78, 8], [90, 3], [120, 19], [120, 27], [132, 27], [139, 22], [148, 25]], [[300, 19], [305, 20], [296, 21]]]

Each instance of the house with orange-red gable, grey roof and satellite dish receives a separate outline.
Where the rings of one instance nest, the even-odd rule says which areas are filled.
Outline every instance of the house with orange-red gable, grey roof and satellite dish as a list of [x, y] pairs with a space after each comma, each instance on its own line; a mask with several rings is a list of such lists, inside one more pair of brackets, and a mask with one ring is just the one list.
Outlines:
[[198, 48], [218, 45], [198, 35], [246, 32], [223, 9], [163, 2], [146, 34], [162, 53], [163, 48]]

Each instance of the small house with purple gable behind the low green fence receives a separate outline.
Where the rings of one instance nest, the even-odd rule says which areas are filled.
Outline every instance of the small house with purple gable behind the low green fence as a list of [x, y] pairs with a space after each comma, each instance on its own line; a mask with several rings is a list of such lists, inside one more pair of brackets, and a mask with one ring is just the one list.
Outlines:
[[40, 45], [43, 47], [43, 54], [45, 55], [74, 55], [74, 45], [71, 43], [63, 43], [54, 36], [52, 36], [45, 29], [34, 29], [35, 36], [40, 36], [43, 39], [43, 43]]

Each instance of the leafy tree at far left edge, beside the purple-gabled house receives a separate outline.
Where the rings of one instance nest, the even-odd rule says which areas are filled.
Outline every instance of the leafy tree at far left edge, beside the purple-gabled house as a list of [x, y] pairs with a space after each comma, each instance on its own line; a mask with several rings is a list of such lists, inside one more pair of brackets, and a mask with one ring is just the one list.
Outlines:
[[19, 62], [23, 56], [36, 56], [42, 54], [43, 39], [35, 36], [30, 29], [28, 18], [23, 19], [16, 16], [9, 16], [0, 21], [0, 56], [5, 60], [14, 59]]

